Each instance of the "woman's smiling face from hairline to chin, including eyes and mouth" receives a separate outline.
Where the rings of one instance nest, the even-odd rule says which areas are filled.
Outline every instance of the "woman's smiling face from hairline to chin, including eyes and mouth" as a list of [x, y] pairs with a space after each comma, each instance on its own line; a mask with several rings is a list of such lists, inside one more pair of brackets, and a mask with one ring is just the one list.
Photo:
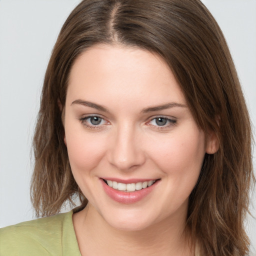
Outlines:
[[110, 45], [82, 53], [70, 72], [64, 129], [73, 176], [104, 221], [128, 230], [184, 221], [212, 146], [159, 56]]

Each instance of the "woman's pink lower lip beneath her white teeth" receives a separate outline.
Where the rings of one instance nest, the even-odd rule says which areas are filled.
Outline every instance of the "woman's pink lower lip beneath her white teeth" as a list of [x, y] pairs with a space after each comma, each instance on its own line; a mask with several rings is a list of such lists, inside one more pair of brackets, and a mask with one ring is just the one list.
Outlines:
[[134, 203], [141, 199], [143, 199], [146, 195], [148, 195], [156, 186], [156, 183], [158, 183], [158, 180], [156, 180], [151, 186], [148, 186], [146, 188], [142, 188], [140, 190], [136, 190], [134, 192], [124, 192], [119, 191], [117, 189], [114, 189], [110, 186], [108, 186], [103, 179], [100, 178], [100, 181], [103, 185], [103, 188], [106, 192], [106, 194], [112, 198], [113, 200], [120, 202], [120, 203]]

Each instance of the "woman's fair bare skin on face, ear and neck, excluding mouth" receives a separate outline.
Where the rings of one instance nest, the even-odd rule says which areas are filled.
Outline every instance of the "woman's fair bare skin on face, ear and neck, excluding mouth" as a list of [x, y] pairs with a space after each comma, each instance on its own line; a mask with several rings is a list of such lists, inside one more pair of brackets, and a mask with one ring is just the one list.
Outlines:
[[[188, 196], [216, 141], [198, 129], [165, 62], [139, 48], [93, 46], [71, 68], [64, 108], [69, 162], [89, 201], [73, 214], [81, 254], [194, 255], [182, 235]], [[88, 116], [102, 119], [93, 125]], [[125, 204], [105, 193], [101, 177], [159, 181]]]

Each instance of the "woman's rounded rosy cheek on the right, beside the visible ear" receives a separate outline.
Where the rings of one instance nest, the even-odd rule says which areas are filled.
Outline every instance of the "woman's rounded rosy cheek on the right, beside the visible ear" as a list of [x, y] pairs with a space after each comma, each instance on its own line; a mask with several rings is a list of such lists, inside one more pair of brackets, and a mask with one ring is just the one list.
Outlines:
[[185, 179], [192, 175], [198, 177], [204, 154], [204, 134], [197, 129], [168, 134], [155, 140], [151, 150], [151, 158], [160, 169]]

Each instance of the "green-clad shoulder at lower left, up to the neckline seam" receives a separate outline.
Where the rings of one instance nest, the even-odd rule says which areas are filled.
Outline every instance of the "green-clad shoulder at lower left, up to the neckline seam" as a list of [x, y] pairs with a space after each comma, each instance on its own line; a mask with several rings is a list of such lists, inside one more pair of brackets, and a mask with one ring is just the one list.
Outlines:
[[62, 229], [71, 212], [0, 228], [0, 255], [59, 255]]

